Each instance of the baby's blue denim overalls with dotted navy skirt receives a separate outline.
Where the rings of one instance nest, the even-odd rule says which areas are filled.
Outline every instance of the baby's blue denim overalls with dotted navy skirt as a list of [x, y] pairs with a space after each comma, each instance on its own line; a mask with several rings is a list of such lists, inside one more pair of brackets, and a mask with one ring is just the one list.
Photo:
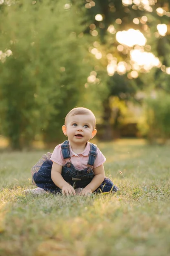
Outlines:
[[[62, 177], [65, 181], [67, 181], [74, 189], [84, 188], [87, 186], [94, 177], [94, 162], [97, 156], [97, 147], [96, 145], [90, 143], [90, 151], [89, 158], [87, 163], [87, 168], [84, 170], [77, 170], [70, 162], [70, 149], [69, 142], [66, 140], [61, 145], [62, 156], [65, 160], [65, 165], [62, 167]], [[61, 189], [57, 187], [51, 179], [51, 168], [52, 161], [49, 159], [51, 157], [51, 153], [48, 153], [48, 158], [42, 163], [40, 169], [34, 173], [33, 175], [33, 183], [35, 183], [38, 187], [45, 189], [50, 192], [61, 192]], [[36, 165], [35, 165], [36, 166]], [[33, 166], [34, 168], [34, 166]], [[113, 182], [105, 177], [102, 184], [95, 190], [97, 193], [101, 192], [116, 192], [117, 187], [113, 185]]]

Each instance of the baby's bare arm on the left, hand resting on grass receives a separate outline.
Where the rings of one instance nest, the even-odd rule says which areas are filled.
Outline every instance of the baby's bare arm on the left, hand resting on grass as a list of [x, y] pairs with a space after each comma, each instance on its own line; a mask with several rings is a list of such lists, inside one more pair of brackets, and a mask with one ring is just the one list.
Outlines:
[[52, 169], [51, 169], [51, 179], [53, 182], [62, 189], [62, 194], [66, 195], [75, 195], [76, 192], [74, 188], [65, 181], [61, 175], [62, 166], [58, 163], [53, 162]]

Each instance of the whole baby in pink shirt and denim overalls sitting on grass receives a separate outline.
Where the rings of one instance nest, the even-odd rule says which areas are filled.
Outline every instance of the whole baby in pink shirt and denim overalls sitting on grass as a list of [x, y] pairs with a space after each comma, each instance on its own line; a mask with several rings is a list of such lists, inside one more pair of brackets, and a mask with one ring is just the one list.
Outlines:
[[96, 118], [87, 108], [73, 108], [65, 117], [62, 131], [68, 140], [43, 155], [31, 173], [36, 189], [26, 193], [46, 191], [65, 195], [89, 195], [93, 192], [116, 192], [117, 187], [105, 177], [106, 158], [89, 140], [96, 135]]

